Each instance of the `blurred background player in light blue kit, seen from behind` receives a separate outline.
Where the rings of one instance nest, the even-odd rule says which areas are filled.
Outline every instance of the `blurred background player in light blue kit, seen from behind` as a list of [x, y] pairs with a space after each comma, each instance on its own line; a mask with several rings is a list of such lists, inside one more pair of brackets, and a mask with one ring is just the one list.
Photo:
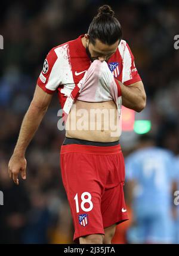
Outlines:
[[[174, 155], [141, 135], [138, 149], [125, 159], [126, 193], [134, 220], [129, 243], [173, 243], [175, 184]], [[130, 203], [129, 203], [130, 205]]]

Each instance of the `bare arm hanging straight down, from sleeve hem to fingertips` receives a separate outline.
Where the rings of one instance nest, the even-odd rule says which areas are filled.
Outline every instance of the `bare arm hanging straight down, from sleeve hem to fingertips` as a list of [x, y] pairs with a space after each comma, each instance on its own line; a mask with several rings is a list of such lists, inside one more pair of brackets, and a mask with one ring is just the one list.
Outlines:
[[38, 85], [36, 86], [33, 100], [24, 116], [17, 144], [8, 165], [10, 178], [12, 178], [17, 185], [18, 173], [21, 173], [21, 177], [26, 179], [26, 159], [24, 157], [26, 148], [41, 124], [52, 97], [52, 94], [48, 94]]

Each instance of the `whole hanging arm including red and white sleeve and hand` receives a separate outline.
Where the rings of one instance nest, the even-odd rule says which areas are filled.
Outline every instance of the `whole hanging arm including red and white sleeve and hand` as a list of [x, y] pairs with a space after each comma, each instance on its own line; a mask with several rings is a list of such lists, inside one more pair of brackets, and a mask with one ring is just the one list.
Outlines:
[[52, 95], [60, 83], [60, 59], [53, 48], [44, 61], [44, 67], [38, 77], [33, 100], [24, 116], [17, 144], [8, 165], [10, 177], [13, 178], [17, 185], [18, 173], [21, 173], [21, 177], [26, 179], [26, 159], [24, 158], [26, 148], [41, 124], [53, 97]]

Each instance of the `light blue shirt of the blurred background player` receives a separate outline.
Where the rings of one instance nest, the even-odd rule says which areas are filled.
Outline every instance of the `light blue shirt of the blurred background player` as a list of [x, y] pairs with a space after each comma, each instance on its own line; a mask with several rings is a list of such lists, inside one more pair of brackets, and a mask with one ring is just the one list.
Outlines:
[[166, 212], [172, 205], [172, 181], [175, 179], [174, 155], [159, 147], [145, 147], [125, 159], [126, 181], [135, 180], [135, 212]]

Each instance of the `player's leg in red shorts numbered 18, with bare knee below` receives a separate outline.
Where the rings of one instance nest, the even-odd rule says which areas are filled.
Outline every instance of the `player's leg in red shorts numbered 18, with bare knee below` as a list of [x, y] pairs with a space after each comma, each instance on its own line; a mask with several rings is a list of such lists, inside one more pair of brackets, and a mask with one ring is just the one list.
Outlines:
[[72, 212], [75, 242], [103, 242], [101, 195], [104, 192], [106, 168], [99, 167], [104, 165], [104, 159], [98, 151], [95, 154], [97, 148], [69, 144], [61, 149], [61, 175]]

